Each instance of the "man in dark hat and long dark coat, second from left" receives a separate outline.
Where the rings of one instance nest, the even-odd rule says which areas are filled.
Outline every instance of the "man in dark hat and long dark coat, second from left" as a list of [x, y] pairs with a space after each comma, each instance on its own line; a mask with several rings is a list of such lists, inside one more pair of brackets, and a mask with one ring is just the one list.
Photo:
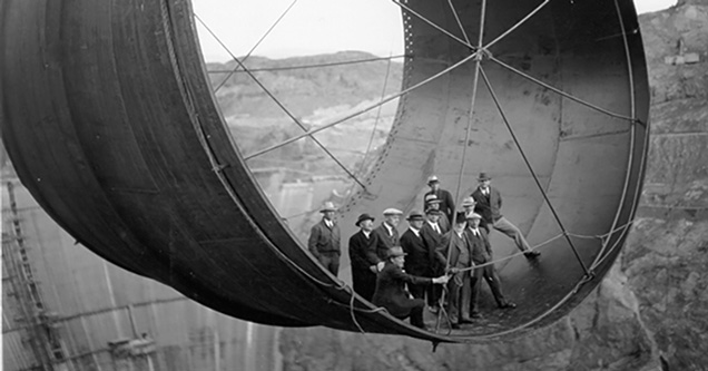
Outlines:
[[352, 284], [354, 291], [371, 301], [376, 290], [376, 273], [384, 262], [376, 255], [378, 243], [374, 230], [374, 217], [362, 214], [354, 223], [360, 231], [350, 237], [350, 261], [352, 262]]

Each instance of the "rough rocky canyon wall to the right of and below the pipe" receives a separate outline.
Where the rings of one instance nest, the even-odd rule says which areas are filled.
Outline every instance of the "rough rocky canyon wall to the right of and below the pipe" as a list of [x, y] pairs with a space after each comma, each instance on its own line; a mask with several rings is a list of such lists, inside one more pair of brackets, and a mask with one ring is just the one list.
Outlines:
[[281, 333], [284, 370], [708, 369], [708, 1], [640, 16], [651, 138], [637, 218], [601, 284], [557, 323], [441, 345], [328, 329]]

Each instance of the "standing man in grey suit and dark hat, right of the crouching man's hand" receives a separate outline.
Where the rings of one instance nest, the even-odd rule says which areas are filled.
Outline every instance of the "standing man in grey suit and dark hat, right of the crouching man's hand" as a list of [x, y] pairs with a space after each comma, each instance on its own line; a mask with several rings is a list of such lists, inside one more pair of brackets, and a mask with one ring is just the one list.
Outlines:
[[453, 329], [459, 329], [463, 323], [472, 323], [472, 320], [470, 320], [471, 272], [469, 271], [469, 267], [472, 266], [472, 260], [470, 241], [465, 228], [466, 217], [464, 213], [458, 213], [454, 226], [443, 235], [440, 245], [435, 250], [435, 257], [440, 264], [450, 266], [452, 272], [455, 272], [452, 280], [448, 282], [450, 316], [452, 318]]

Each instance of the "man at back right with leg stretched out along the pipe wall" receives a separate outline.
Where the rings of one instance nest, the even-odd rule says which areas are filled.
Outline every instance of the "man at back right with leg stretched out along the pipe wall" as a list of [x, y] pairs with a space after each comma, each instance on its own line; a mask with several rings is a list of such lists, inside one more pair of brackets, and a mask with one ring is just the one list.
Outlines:
[[476, 202], [474, 212], [482, 215], [482, 226], [486, 232], [489, 233], [491, 228], [494, 228], [505, 234], [514, 241], [517, 247], [527, 257], [531, 258], [541, 255], [540, 252], [531, 250], [521, 231], [501, 214], [502, 197], [501, 193], [491, 186], [492, 178], [486, 173], [480, 173], [478, 182], [479, 186], [472, 193], [472, 197]]

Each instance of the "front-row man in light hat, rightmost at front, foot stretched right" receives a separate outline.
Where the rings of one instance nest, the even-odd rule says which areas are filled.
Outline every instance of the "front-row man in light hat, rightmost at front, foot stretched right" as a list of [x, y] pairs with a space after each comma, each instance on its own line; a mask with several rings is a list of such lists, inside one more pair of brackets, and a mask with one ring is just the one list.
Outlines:
[[[465, 231], [470, 241], [470, 254], [474, 265], [482, 265], [492, 261], [492, 246], [486, 238], [486, 230], [480, 227], [482, 216], [476, 213], [466, 215], [469, 227]], [[482, 286], [482, 280], [486, 281], [496, 305], [502, 309], [514, 309], [517, 304], [510, 302], [504, 297], [501, 289], [501, 281], [494, 264], [475, 267], [472, 272], [472, 294], [470, 297], [470, 315], [472, 318], [480, 318], [480, 311], [478, 307], [478, 301], [480, 296], [480, 289]]]

